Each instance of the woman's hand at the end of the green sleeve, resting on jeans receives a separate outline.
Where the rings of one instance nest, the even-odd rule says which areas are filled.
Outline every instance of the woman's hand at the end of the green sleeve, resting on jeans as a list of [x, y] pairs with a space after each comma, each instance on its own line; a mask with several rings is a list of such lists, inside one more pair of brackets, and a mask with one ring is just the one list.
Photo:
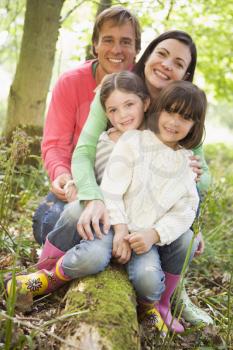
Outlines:
[[94, 236], [91, 225], [96, 236], [101, 239], [102, 232], [100, 230], [100, 222], [103, 224], [104, 233], [108, 233], [110, 229], [108, 211], [101, 200], [93, 200], [87, 203], [77, 223], [77, 230], [83, 239], [93, 240]]

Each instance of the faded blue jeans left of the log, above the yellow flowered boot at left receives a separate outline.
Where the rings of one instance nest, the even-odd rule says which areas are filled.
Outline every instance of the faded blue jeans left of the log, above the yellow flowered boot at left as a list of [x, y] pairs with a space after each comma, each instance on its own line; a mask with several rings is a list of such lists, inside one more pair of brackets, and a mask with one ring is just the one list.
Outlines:
[[65, 254], [62, 268], [70, 278], [84, 277], [103, 271], [112, 256], [112, 230], [98, 239], [94, 234], [93, 241], [83, 240], [77, 232], [77, 222], [82, 213], [79, 201], [65, 206], [54, 229], [47, 238], [55, 247]]

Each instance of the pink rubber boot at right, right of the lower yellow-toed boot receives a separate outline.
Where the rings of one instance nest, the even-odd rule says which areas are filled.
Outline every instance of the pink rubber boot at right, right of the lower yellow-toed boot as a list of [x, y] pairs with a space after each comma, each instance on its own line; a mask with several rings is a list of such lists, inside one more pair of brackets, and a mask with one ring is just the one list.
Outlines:
[[159, 301], [159, 312], [168, 326], [168, 328], [175, 333], [183, 333], [184, 327], [182, 324], [176, 319], [173, 318], [172, 320], [172, 314], [170, 309], [170, 299], [171, 296], [176, 289], [176, 286], [178, 285], [180, 280], [180, 275], [173, 275], [171, 273], [165, 272], [165, 291], [162, 294], [162, 297]]

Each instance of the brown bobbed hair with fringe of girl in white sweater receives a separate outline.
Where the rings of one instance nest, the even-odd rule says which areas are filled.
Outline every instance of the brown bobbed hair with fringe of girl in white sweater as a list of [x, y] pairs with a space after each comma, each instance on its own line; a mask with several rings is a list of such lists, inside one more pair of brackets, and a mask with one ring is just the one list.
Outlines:
[[158, 133], [158, 120], [162, 111], [178, 113], [183, 118], [193, 120], [194, 125], [179, 145], [191, 149], [199, 146], [204, 134], [207, 100], [204, 91], [191, 82], [176, 80], [163, 88], [156, 102], [150, 107], [146, 127]]

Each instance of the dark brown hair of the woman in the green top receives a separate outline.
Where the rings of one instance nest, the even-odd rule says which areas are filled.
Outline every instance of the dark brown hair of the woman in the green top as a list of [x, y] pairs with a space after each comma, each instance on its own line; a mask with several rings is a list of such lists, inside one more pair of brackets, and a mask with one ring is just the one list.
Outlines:
[[170, 30], [168, 32], [165, 32], [161, 35], [159, 35], [156, 39], [154, 39], [146, 48], [144, 51], [143, 55], [139, 59], [139, 61], [136, 63], [134, 66], [133, 71], [138, 74], [143, 80], [145, 80], [145, 75], [144, 75], [144, 69], [145, 69], [145, 63], [154, 51], [155, 47], [161, 43], [164, 40], [167, 39], [175, 39], [183, 44], [187, 45], [190, 50], [191, 54], [191, 62], [187, 68], [186, 75], [185, 75], [185, 80], [188, 81], [193, 81], [193, 76], [196, 68], [196, 62], [197, 62], [197, 49], [196, 45], [193, 42], [191, 36], [183, 32], [181, 30]]

